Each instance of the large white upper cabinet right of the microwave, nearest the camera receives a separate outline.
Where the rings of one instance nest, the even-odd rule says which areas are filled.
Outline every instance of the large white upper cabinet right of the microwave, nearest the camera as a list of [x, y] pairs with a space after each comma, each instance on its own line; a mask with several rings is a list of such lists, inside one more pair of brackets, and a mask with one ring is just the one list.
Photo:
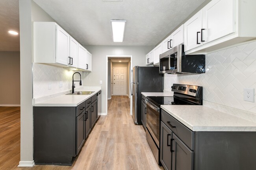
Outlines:
[[208, 53], [256, 38], [255, 0], [211, 0], [184, 24], [184, 48]]

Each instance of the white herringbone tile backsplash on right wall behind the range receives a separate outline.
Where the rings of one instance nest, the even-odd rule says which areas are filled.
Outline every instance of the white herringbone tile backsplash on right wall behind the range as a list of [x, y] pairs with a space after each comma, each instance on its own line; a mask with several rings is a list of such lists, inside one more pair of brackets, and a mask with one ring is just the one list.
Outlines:
[[165, 90], [173, 83], [203, 86], [205, 101], [256, 113], [255, 101], [243, 101], [244, 88], [256, 89], [256, 41], [207, 54], [205, 74], [165, 74]]

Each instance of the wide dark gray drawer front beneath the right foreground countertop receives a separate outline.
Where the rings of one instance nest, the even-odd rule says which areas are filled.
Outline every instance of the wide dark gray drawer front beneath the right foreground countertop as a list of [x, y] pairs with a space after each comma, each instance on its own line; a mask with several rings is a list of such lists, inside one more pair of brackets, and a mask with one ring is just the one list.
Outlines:
[[161, 110], [163, 121], [191, 150], [194, 150], [194, 133], [164, 110]]

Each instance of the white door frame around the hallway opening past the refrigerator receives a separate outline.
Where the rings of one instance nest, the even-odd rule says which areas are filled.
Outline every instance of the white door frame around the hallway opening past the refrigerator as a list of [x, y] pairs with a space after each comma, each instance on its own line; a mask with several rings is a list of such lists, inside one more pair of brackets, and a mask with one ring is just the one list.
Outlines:
[[[111, 58], [131, 58], [130, 60], [130, 77], [129, 77], [129, 91], [131, 90], [131, 72], [132, 72], [132, 55], [106, 55], [106, 115], [108, 115], [108, 57]], [[132, 97], [131, 92], [129, 92], [130, 97], [130, 115], [132, 115]]]

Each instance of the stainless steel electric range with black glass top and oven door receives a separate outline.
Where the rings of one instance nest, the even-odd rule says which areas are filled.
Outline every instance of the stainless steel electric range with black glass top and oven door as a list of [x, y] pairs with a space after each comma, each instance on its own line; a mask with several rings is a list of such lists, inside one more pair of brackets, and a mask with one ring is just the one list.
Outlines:
[[147, 130], [148, 144], [158, 162], [160, 162], [160, 120], [161, 105], [202, 105], [202, 86], [173, 84], [173, 96], [148, 96], [147, 103]]

